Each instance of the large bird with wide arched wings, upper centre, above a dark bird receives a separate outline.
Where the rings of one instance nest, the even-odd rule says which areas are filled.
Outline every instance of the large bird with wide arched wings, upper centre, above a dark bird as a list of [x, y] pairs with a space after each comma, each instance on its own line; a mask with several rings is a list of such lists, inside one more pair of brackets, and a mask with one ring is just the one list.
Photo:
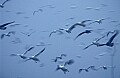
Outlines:
[[66, 31], [67, 33], [71, 33], [71, 31], [74, 29], [74, 28], [76, 28], [76, 26], [82, 26], [82, 27], [86, 27], [86, 22], [88, 22], [88, 21], [92, 21], [92, 20], [84, 20], [84, 21], [82, 21], [82, 22], [77, 22], [77, 23], [75, 23], [75, 24], [73, 24], [70, 28], [68, 28], [68, 29], [65, 29], [65, 28], [60, 28], [60, 30], [64, 30], [64, 31]]

